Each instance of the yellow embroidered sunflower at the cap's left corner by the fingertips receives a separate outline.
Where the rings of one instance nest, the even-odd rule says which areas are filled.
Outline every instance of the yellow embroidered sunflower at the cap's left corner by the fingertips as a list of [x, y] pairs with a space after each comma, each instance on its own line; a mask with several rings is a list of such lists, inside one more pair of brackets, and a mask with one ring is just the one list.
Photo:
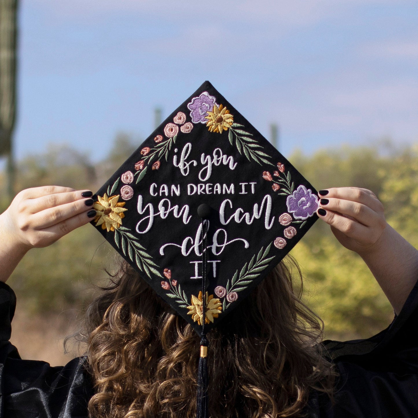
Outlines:
[[97, 215], [94, 218], [96, 226], [102, 225], [102, 229], [107, 229], [107, 232], [114, 231], [122, 225], [122, 218], [125, 217], [123, 212], [127, 211], [125, 202], [118, 202], [120, 195], [107, 196], [105, 193], [103, 197], [97, 196], [97, 202], [94, 203], [93, 208], [96, 209]]

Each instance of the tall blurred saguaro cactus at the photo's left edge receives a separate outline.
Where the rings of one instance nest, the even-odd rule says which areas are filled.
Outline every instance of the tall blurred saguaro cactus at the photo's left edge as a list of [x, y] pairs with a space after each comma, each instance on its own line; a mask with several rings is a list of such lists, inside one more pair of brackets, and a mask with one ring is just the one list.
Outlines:
[[14, 194], [12, 135], [16, 117], [18, 0], [0, 0], [0, 155], [7, 155], [8, 194]]

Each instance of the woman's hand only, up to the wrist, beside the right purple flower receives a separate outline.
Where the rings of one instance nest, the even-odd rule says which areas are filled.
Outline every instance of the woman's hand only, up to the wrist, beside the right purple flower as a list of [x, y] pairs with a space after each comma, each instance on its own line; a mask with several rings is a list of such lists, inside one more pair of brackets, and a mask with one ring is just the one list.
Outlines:
[[362, 255], [382, 237], [387, 222], [383, 205], [367, 189], [338, 187], [319, 191], [317, 213], [331, 226], [336, 239]]

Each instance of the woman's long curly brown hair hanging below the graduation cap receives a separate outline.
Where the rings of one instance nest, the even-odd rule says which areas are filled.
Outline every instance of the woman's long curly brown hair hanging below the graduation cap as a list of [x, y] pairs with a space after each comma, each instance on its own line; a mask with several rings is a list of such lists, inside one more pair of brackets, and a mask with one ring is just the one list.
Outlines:
[[[209, 333], [210, 416], [301, 416], [311, 388], [332, 394], [323, 323], [301, 301], [301, 279], [287, 256]], [[89, 305], [83, 335], [90, 417], [196, 415], [200, 338], [126, 262]]]

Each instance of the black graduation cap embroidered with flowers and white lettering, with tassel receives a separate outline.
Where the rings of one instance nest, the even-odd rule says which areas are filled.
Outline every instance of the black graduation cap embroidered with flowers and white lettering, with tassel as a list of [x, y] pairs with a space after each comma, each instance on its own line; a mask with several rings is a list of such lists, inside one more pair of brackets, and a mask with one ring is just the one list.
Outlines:
[[92, 224], [208, 340], [317, 219], [317, 192], [209, 82], [97, 192]]

